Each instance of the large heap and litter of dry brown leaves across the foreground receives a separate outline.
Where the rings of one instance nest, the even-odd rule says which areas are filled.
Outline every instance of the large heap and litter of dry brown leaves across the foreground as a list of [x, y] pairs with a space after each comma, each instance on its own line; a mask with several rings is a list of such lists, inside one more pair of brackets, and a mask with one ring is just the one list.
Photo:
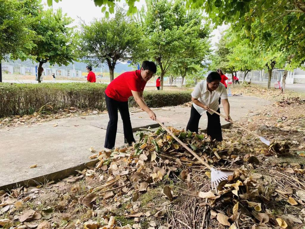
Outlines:
[[[234, 171], [210, 190], [210, 171], [163, 130], [132, 147], [101, 151], [78, 176], [0, 193], [0, 226], [11, 229], [301, 228], [304, 167], [270, 163], [289, 142], [253, 146], [237, 136], [170, 130], [217, 168]], [[237, 130], [238, 131], [238, 130]], [[93, 149], [90, 150], [94, 152]], [[203, 157], [202, 157], [203, 158]]]

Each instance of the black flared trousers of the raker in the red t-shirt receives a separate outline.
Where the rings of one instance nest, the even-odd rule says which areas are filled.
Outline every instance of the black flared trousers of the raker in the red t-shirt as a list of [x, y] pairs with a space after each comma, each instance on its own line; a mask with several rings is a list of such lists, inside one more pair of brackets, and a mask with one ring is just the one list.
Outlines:
[[128, 102], [119, 102], [117, 100], [108, 97], [106, 94], [105, 94], [105, 100], [109, 115], [109, 122], [107, 125], [104, 147], [107, 149], [112, 149], [114, 147], [115, 139], [117, 136], [117, 120], [118, 120], [117, 110], [120, 111], [123, 121], [124, 143], [131, 144], [132, 142], [135, 142], [135, 138], [132, 133], [132, 127], [130, 122]]

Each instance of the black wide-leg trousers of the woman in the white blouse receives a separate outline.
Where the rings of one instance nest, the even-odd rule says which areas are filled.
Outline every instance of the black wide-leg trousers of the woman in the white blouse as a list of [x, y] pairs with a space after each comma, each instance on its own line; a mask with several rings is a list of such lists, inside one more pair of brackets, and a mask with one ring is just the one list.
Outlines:
[[[220, 108], [217, 110], [220, 113]], [[217, 141], [222, 141], [222, 134], [221, 134], [221, 124], [220, 124], [220, 117], [219, 115], [213, 113], [211, 115], [209, 112], [206, 111], [206, 115], [208, 116], [208, 127], [207, 127], [207, 134], [211, 136], [211, 139], [216, 139]], [[191, 108], [191, 116], [188, 120], [188, 125], [186, 126], [186, 130], [190, 130], [192, 132], [196, 132], [198, 134], [198, 125], [201, 115], [192, 105]]]

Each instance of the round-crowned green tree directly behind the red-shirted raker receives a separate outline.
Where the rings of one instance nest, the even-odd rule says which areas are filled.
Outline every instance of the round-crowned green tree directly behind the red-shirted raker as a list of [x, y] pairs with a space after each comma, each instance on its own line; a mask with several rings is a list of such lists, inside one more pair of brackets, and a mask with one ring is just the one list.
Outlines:
[[81, 25], [80, 48], [83, 58], [96, 67], [109, 67], [110, 81], [118, 61], [135, 62], [143, 53], [141, 27], [120, 7], [114, 18], [94, 19]]

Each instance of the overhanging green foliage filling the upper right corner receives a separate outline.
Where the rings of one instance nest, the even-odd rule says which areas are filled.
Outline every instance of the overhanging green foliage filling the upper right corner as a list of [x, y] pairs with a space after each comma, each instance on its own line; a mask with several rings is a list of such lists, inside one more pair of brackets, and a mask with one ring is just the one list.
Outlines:
[[[248, 38], [260, 51], [277, 49], [292, 56], [289, 65], [300, 67], [305, 62], [305, 2], [303, 0], [211, 0], [196, 5], [203, 7], [215, 25], [231, 23], [238, 39]], [[242, 33], [240, 33], [242, 31]]]

